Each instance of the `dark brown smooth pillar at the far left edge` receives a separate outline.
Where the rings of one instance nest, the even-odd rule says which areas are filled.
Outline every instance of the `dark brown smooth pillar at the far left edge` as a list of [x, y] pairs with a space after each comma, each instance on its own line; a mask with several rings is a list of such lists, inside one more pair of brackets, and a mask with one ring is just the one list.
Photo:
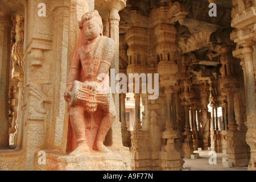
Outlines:
[[11, 19], [0, 15], [0, 148], [9, 146], [9, 75], [11, 55]]

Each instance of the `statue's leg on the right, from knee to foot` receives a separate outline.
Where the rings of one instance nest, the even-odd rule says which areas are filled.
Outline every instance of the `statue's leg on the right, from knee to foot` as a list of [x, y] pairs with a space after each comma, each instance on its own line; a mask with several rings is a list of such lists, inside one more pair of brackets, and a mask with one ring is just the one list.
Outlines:
[[102, 118], [102, 121], [100, 123], [100, 126], [98, 128], [98, 133], [96, 140], [94, 142], [93, 148], [100, 151], [100, 152], [105, 152], [109, 153], [111, 150], [109, 150], [106, 146], [104, 146], [103, 142], [106, 137], [106, 134], [108, 133], [110, 127], [112, 126], [113, 122], [115, 121], [115, 105], [114, 101], [111, 98], [109, 100], [108, 107], [105, 107], [105, 115]]

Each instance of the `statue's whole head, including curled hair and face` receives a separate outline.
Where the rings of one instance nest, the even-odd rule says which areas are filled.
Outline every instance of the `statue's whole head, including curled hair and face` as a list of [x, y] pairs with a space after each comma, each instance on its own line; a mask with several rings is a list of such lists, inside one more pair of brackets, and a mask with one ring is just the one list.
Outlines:
[[96, 39], [103, 34], [102, 19], [97, 10], [84, 14], [81, 23], [87, 40]]

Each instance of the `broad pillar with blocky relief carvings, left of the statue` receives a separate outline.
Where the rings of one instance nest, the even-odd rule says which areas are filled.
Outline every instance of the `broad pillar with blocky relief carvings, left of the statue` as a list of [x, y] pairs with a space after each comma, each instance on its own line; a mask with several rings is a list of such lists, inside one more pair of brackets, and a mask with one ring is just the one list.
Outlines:
[[[42, 0], [42, 3], [47, 1]], [[53, 21], [38, 16], [38, 1], [28, 0], [24, 32], [24, 95], [22, 105], [23, 140], [26, 148], [25, 169], [33, 170], [37, 151], [47, 147], [53, 104]], [[47, 9], [47, 15], [53, 14]], [[40, 24], [40, 26], [38, 26]], [[38, 46], [40, 45], [40, 46]], [[18, 137], [19, 138], [19, 137]], [[36, 142], [35, 142], [36, 141]], [[46, 142], [47, 141], [47, 142]], [[19, 141], [17, 141], [19, 143]], [[17, 145], [18, 145], [17, 143]]]

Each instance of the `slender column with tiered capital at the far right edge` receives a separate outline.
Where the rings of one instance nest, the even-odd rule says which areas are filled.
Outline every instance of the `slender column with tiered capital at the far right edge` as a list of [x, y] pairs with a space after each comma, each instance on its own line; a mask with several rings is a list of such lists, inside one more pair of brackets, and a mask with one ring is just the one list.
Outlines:
[[[246, 2], [246, 3], [245, 3]], [[231, 26], [236, 28], [233, 30], [230, 38], [237, 43], [236, 51], [233, 51], [233, 55], [241, 59], [241, 65], [243, 67], [243, 78], [245, 82], [245, 98], [246, 98], [246, 142], [250, 146], [250, 163], [248, 170], [256, 171], [255, 158], [255, 110], [256, 110], [256, 98], [255, 98], [255, 76], [253, 69], [253, 53], [255, 53], [255, 17], [256, 7], [255, 3], [247, 3], [247, 1], [233, 2], [233, 16]], [[238, 7], [237, 7], [238, 6]], [[254, 54], [255, 55], [255, 54]], [[243, 61], [242, 61], [243, 60]]]

